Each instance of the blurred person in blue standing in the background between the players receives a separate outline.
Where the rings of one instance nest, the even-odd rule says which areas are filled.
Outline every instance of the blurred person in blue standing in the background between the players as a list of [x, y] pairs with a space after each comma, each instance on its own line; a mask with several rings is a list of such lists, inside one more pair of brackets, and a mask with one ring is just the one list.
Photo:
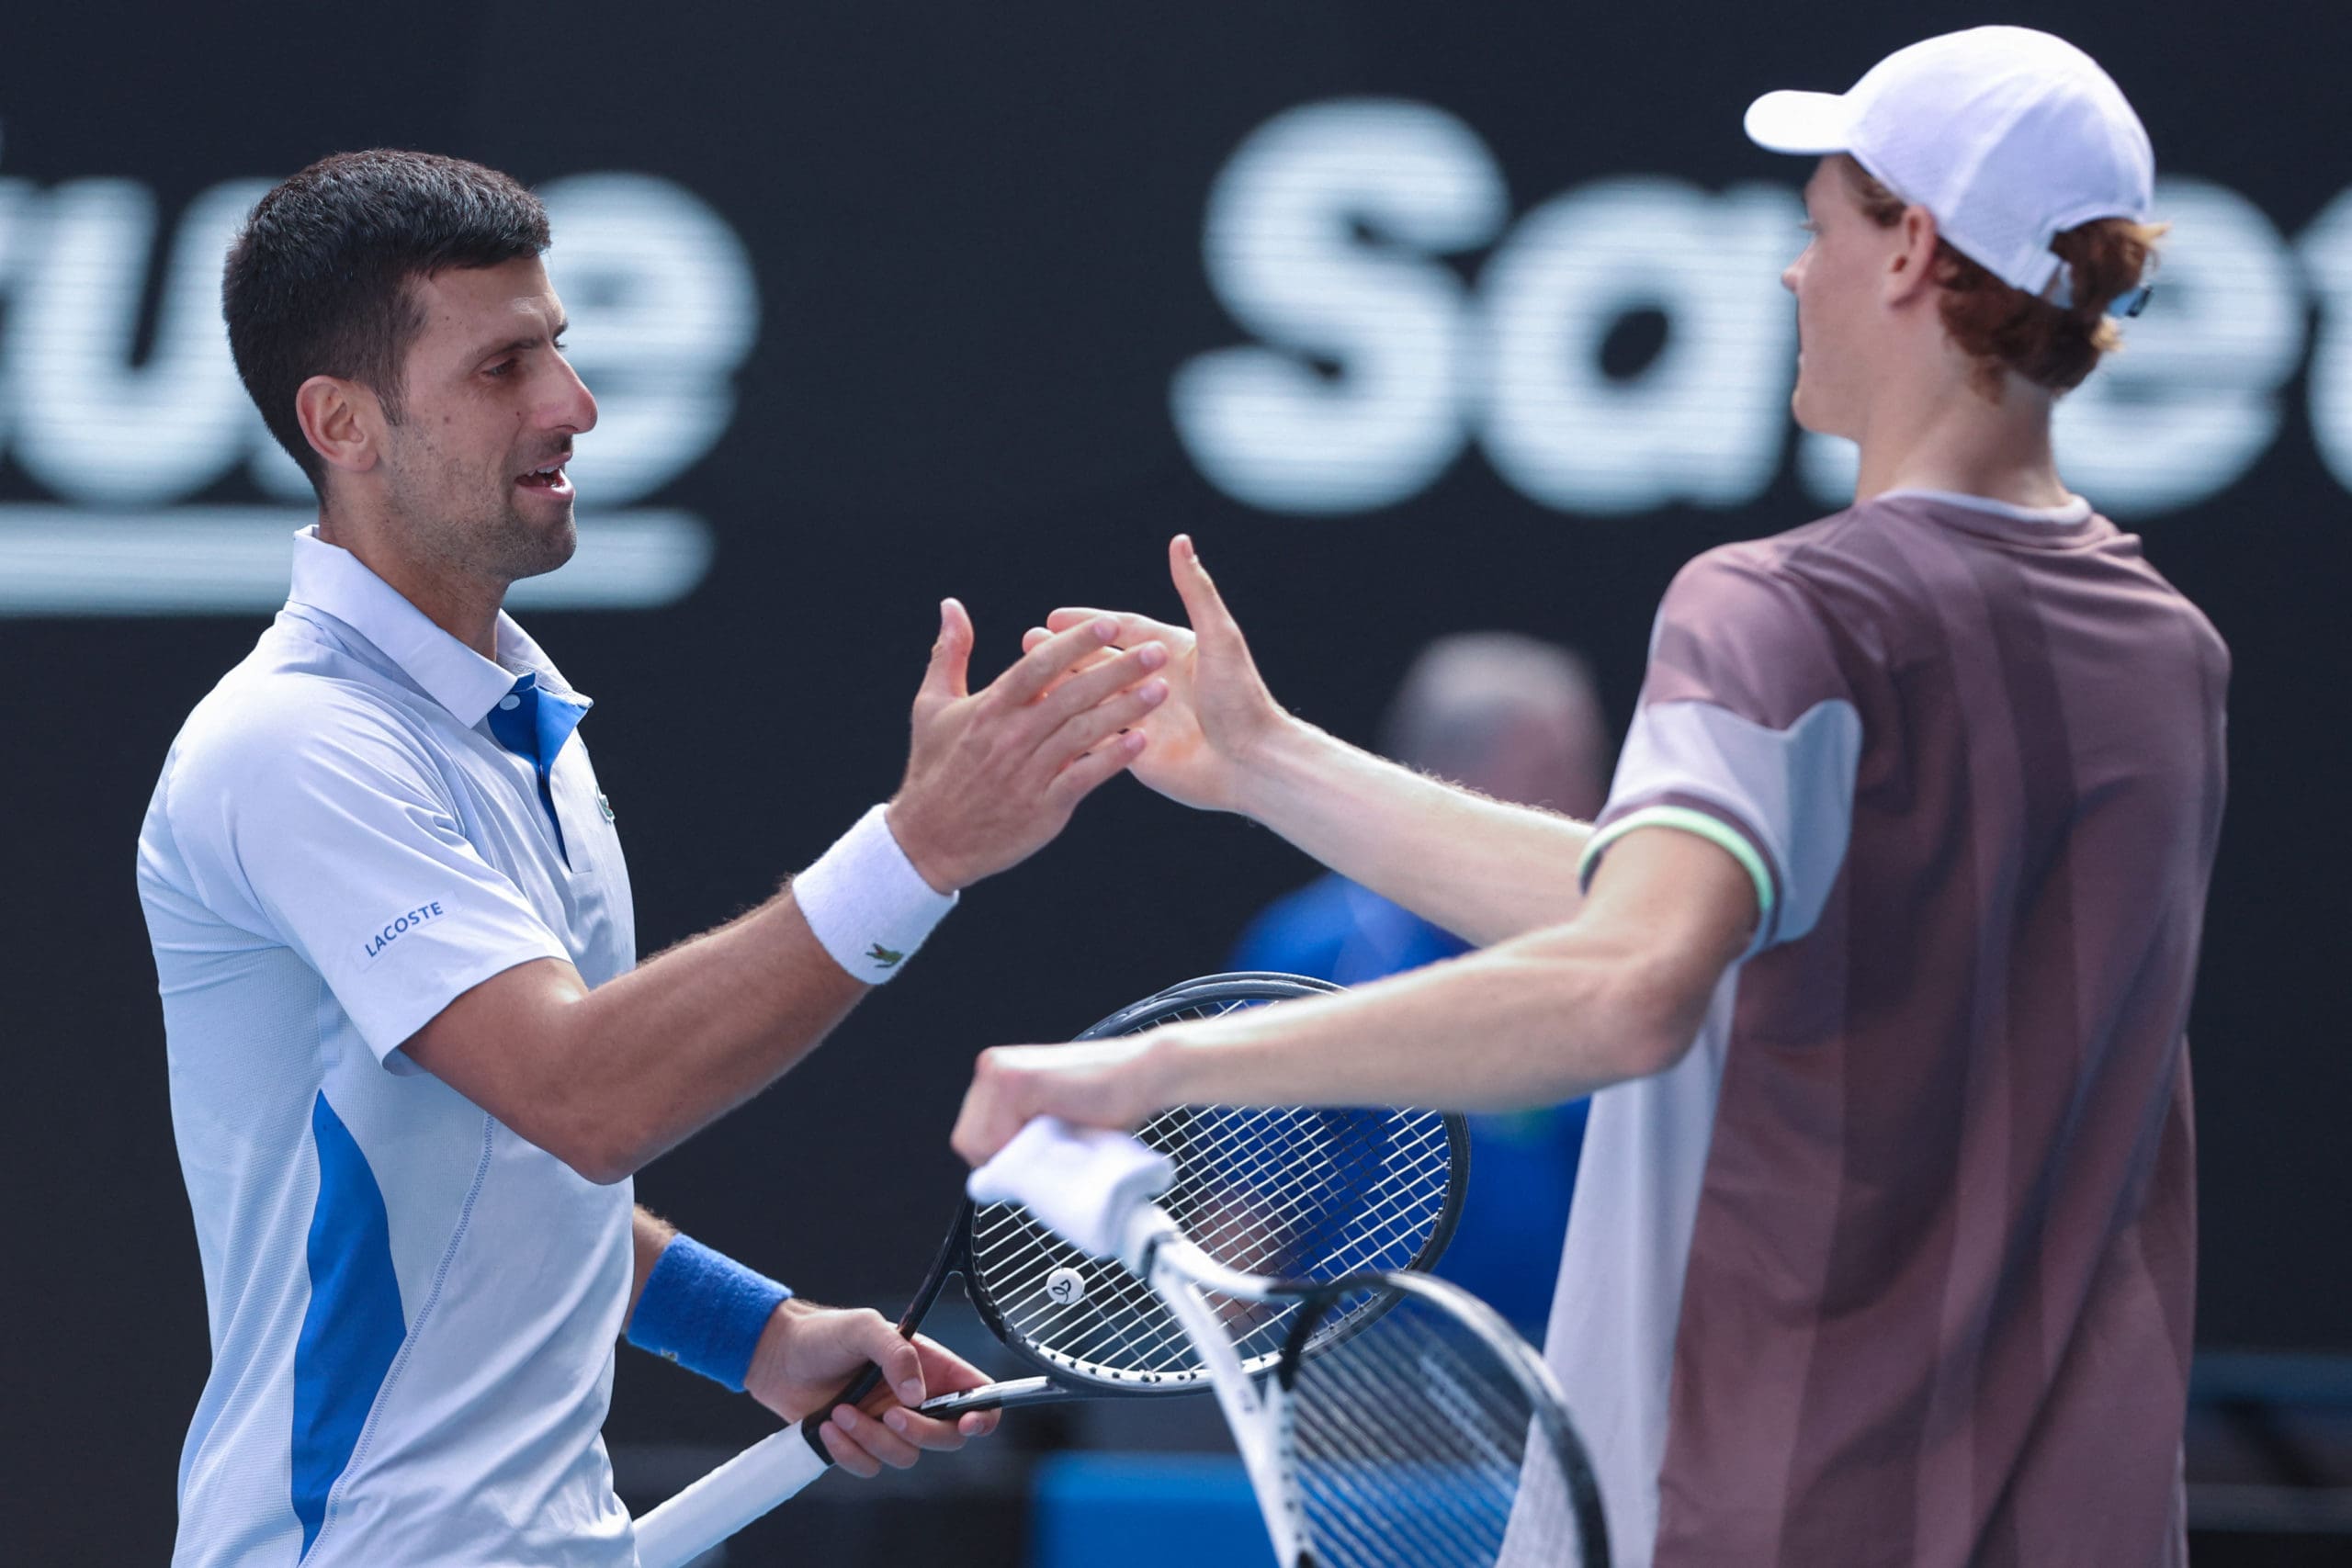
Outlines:
[[[1406, 670], [1381, 726], [1397, 762], [1496, 799], [1590, 820], [1611, 743], [1592, 670], [1515, 632], [1439, 637]], [[1345, 877], [1275, 900], [1242, 933], [1235, 969], [1359, 985], [1463, 952], [1465, 943]], [[1569, 1225], [1585, 1103], [1470, 1117], [1470, 1194], [1439, 1274], [1541, 1340]]]

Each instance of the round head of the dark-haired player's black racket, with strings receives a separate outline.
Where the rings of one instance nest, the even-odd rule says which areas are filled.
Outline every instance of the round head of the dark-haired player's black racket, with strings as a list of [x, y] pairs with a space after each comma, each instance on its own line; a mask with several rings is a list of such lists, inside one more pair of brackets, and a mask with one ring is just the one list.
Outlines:
[[[1282, 973], [1204, 976], [1103, 1018], [1077, 1039], [1138, 1034], [1341, 990]], [[1160, 1206], [1232, 1269], [1296, 1281], [1272, 1300], [1214, 1298], [1247, 1371], [1282, 1359], [1289, 1321], [1319, 1284], [1385, 1269], [1425, 1269], [1461, 1218], [1470, 1138], [1461, 1117], [1416, 1110], [1235, 1110], [1188, 1105], [1136, 1133], [1176, 1161]], [[1028, 1211], [971, 1213], [967, 1293], [988, 1328], [1056, 1380], [1105, 1392], [1185, 1394], [1204, 1368], [1150, 1286], [1089, 1258]], [[1352, 1333], [1390, 1298], [1322, 1314], [1319, 1333]]]

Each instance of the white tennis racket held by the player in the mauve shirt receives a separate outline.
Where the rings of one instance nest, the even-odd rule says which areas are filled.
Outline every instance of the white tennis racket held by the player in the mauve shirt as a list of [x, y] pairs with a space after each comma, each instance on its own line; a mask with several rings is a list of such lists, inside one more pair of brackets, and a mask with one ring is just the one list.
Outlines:
[[[1033, 1121], [971, 1175], [1117, 1258], [1183, 1326], [1279, 1568], [1609, 1566], [1599, 1486], [1543, 1359], [1468, 1291], [1414, 1272], [1265, 1279], [1145, 1197], [1174, 1166], [1120, 1133]], [[1249, 1354], [1232, 1302], [1284, 1314]]]

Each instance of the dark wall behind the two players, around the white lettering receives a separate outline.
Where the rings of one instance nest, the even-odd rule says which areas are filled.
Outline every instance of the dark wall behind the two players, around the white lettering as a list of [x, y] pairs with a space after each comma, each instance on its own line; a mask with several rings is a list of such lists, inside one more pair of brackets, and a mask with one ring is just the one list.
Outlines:
[[[736, 308], [715, 327], [739, 362], [724, 343], [703, 357], [699, 386], [731, 388], [731, 409], [706, 409], [710, 449], [637, 501], [706, 522], [708, 576], [666, 607], [527, 616], [597, 698], [583, 736], [619, 809], [644, 952], [760, 900], [894, 788], [946, 592], [971, 607], [978, 663], [993, 672], [1054, 604], [1174, 614], [1160, 550], [1190, 529], [1277, 693], [1343, 736], [1369, 741], [1418, 644], [1463, 628], [1581, 644], [1623, 722], [1675, 567], [1830, 510], [1799, 477], [1785, 418], [1752, 494], [1731, 503], [1541, 503], [1477, 442], [1409, 494], [1322, 515], [1221, 489], [1178, 435], [1171, 381], [1197, 355], [1258, 336], [1211, 287], [1204, 219], [1235, 150], [1272, 118], [1334, 99], [1444, 110], [1498, 165], [1508, 230], [1550, 197], [1616, 176], [1670, 176], [1700, 195], [1748, 181], [1792, 190], [1804, 167], [1738, 134], [1748, 99], [1844, 87], [1886, 49], [1947, 26], [2032, 21], [2091, 47], [2140, 106], [2159, 165], [2244, 197], [2256, 223], [2239, 228], [2270, 233], [2251, 259], [2209, 249], [2201, 270], [2199, 235], [2178, 237], [2171, 308], [2201, 329], [2176, 327], [2178, 353], [2150, 353], [2140, 381], [2107, 404], [2124, 435], [2086, 458], [2096, 473], [2112, 473], [2117, 451], [2136, 461], [2140, 411], [2147, 461], [2180, 458], [2194, 442], [2166, 418], [2183, 386], [2244, 383], [2223, 414], [2260, 430], [2249, 437], [2258, 456], [2211, 494], [2140, 512], [2110, 503], [2237, 656], [2232, 804], [2192, 1034], [2199, 1331], [2213, 1347], [2352, 1349], [2340, 1220], [2352, 1067], [2331, 983], [2347, 957], [2347, 865], [2326, 762], [2347, 717], [2352, 496], [2314, 440], [2338, 428], [2331, 418], [2352, 421], [2331, 411], [2326, 371], [2331, 334], [2352, 329], [2352, 296], [2324, 301], [2340, 244], [2314, 242], [2300, 261], [2286, 249], [2352, 188], [2338, 71], [2352, 14], [1397, 0], [953, 12], [861, 0], [724, 12], [247, 5], [223, 16], [52, 9], [16, 19], [0, 47], [0, 545], [26, 520], [54, 522], [28, 508], [101, 496], [108, 473], [160, 461], [169, 437], [169, 409], [99, 395], [80, 416], [82, 468], [42, 456], [64, 447], [35, 430], [40, 418], [54, 423], [54, 400], [89, 388], [56, 381], [64, 371], [26, 350], [35, 280], [49, 277], [54, 294], [33, 235], [59, 233], [26, 214], [78, 181], [134, 181], [153, 197], [158, 230], [141, 256], [153, 266], [127, 348], [141, 364], [167, 327], [174, 226], [221, 181], [395, 143], [534, 183], [633, 172], [691, 193], [736, 237], [755, 320]], [[588, 263], [583, 282], [567, 282], [562, 233], [557, 216], [555, 277], [581, 322], [583, 371], [602, 386], [595, 310], [623, 322], [630, 301], [600, 294]], [[1369, 219], [1341, 240], [1442, 273], [1463, 299], [1498, 254], [1486, 237], [1432, 256]], [[1799, 242], [1790, 221], [1771, 266]], [[689, 249], [687, 270], [699, 256], [724, 284], [724, 237]], [[724, 310], [720, 284], [713, 308]], [[2166, 308], [2159, 289], [2143, 322], [2152, 343]], [[1752, 320], [1764, 324], [1748, 329], [1773, 331]], [[2232, 336], [2232, 322], [2249, 324]], [[1597, 346], [1562, 353], [1597, 353], [1613, 386], [1637, 390], [1691, 331], [1691, 317], [1632, 301]], [[609, 343], [602, 353], [619, 388], [609, 411], [666, 397], [659, 374]], [[1336, 393], [1369, 374], [1345, 341], [1298, 357]], [[1468, 386], [1482, 362], [1461, 364]], [[1785, 397], [1785, 381], [1764, 395]], [[1465, 409], [1475, 402], [1461, 395]], [[576, 468], [590, 541], [597, 440], [581, 442]], [[2338, 449], [2352, 449], [2352, 428]], [[1644, 473], [1677, 465], [1668, 454]], [[66, 527], [96, 538], [169, 527], [193, 517], [188, 505], [268, 501], [242, 465], [169, 496], [158, 487], [169, 489], [153, 482], [155, 494], [118, 496], [120, 515], [68, 515]], [[0, 618], [0, 1150], [16, 1218], [0, 1291], [0, 1490], [78, 1500], [71, 1526], [35, 1535], [26, 1561], [160, 1561], [169, 1540], [174, 1460], [207, 1342], [132, 839], [181, 715], [263, 621], [259, 607]], [[950, 1204], [957, 1166], [943, 1135], [969, 1056], [1068, 1034], [1214, 969], [1242, 919], [1305, 875], [1270, 835], [1122, 780], [1058, 844], [969, 893], [922, 961], [809, 1065], [644, 1171], [640, 1197], [811, 1293], [894, 1305]], [[616, 1441], [724, 1441], [755, 1427], [691, 1380], [630, 1356], [623, 1368]]]

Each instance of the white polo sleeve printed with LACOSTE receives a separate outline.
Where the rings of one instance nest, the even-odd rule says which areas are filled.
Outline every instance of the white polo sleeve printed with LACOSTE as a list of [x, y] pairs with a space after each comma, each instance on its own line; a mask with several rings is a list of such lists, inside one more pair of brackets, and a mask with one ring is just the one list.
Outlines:
[[358, 693], [230, 715], [179, 759], [169, 816], [198, 896], [315, 969], [379, 1063], [482, 980], [572, 957], [466, 839], [430, 755]]

